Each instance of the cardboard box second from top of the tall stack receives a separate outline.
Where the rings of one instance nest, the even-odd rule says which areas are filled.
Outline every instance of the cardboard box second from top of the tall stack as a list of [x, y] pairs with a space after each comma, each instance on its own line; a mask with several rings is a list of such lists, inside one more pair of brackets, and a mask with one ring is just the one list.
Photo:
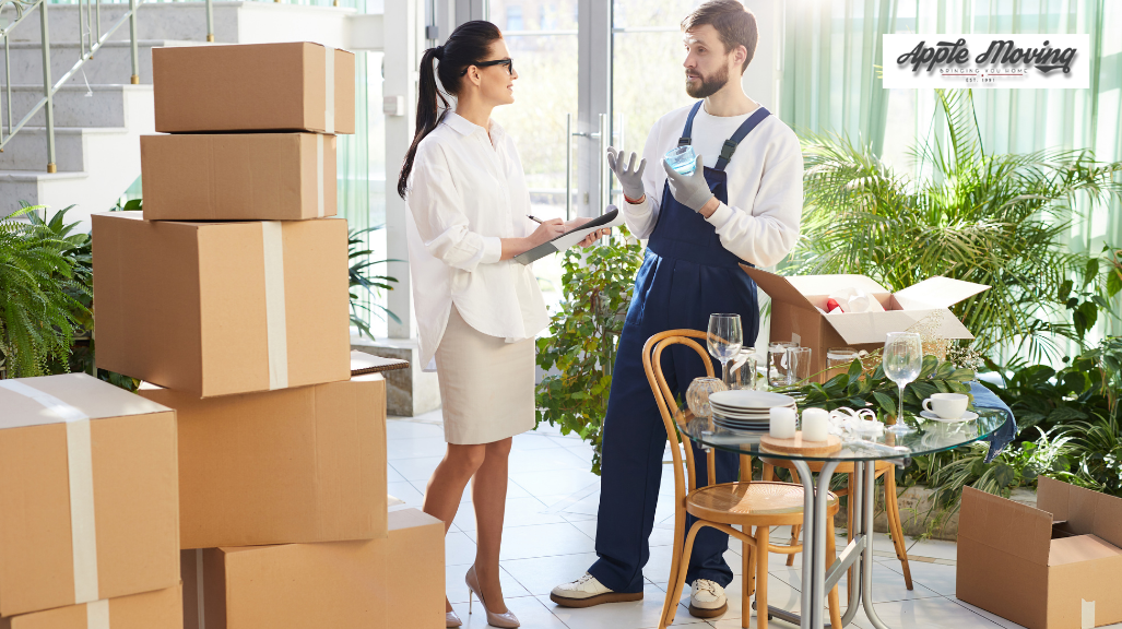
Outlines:
[[142, 136], [144, 218], [295, 221], [335, 215], [335, 137]]

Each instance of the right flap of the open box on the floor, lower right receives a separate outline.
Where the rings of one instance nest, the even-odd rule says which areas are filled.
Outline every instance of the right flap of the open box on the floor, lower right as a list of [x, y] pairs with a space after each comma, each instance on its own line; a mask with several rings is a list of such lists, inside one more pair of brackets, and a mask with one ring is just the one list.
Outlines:
[[1037, 506], [1057, 520], [1067, 520], [1069, 530], [1122, 547], [1122, 498], [1046, 477], [1040, 477], [1037, 487]]

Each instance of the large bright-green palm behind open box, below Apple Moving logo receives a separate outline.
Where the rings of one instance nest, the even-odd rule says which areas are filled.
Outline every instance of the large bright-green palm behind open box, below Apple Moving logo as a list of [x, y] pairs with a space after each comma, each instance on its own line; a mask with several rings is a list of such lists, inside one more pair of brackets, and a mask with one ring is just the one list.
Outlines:
[[986, 152], [972, 93], [936, 92], [949, 140], [912, 149], [930, 176], [902, 175], [836, 135], [803, 137], [806, 238], [790, 263], [801, 274], [864, 274], [892, 290], [932, 276], [988, 285], [951, 308], [977, 334], [975, 349], [1058, 358], [1057, 337], [1082, 342], [1122, 288], [1110, 269], [1063, 246], [1077, 197], [1122, 195], [1122, 163], [1087, 150]]

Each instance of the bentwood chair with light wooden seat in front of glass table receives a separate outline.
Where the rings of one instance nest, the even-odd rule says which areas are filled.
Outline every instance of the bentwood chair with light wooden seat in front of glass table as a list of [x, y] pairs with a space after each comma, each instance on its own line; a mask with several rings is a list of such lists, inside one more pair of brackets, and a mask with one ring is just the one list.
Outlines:
[[[674, 621], [678, 601], [682, 595], [686, 571], [690, 564], [690, 553], [693, 539], [702, 527], [711, 527], [739, 539], [744, 547], [741, 553], [743, 561], [741, 591], [741, 627], [749, 627], [751, 607], [748, 598], [756, 596], [756, 627], [767, 628], [767, 553], [792, 554], [802, 551], [802, 546], [774, 546], [769, 542], [769, 533], [773, 526], [794, 526], [802, 522], [802, 485], [782, 482], [752, 482], [752, 461], [741, 456], [742, 482], [697, 487], [693, 471], [693, 448], [689, 438], [679, 433], [684, 427], [687, 414], [674, 401], [666, 379], [662, 373], [662, 352], [666, 348], [682, 344], [692, 348], [706, 366], [706, 373], [712, 376], [712, 363], [709, 354], [693, 339], [705, 339], [703, 332], [696, 330], [670, 330], [647, 339], [643, 346], [643, 369], [646, 379], [654, 391], [662, 422], [670, 440], [670, 452], [674, 465], [674, 549], [670, 565], [670, 584], [666, 601], [662, 608], [659, 629], [669, 627]], [[688, 386], [688, 383], [682, 383]], [[679, 422], [682, 422], [681, 426]], [[684, 447], [682, 447], [684, 445]], [[684, 462], [682, 451], [684, 450]], [[684, 471], [683, 471], [684, 463]], [[709, 479], [716, 478], [716, 460], [710, 450], [706, 455]], [[688, 489], [687, 489], [688, 488]], [[833, 559], [834, 547], [834, 514], [838, 512], [839, 502], [835, 494], [828, 498], [826, 530], [826, 555]], [[697, 519], [687, 535], [686, 516]], [[739, 528], [734, 528], [739, 527]], [[684, 540], [683, 540], [684, 537]], [[829, 596], [830, 623], [842, 627], [842, 616], [838, 610], [838, 589], [830, 590]]]

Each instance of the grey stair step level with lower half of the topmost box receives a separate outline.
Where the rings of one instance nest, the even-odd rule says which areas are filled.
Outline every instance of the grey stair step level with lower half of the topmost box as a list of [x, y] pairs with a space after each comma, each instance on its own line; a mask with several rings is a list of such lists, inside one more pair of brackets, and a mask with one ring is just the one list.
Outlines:
[[[43, 99], [43, 85], [12, 85], [12, 118], [16, 123]], [[123, 127], [128, 107], [142, 99], [151, 108], [151, 85], [83, 85], [66, 84], [55, 92], [56, 127]], [[7, 104], [7, 101], [4, 102]], [[141, 105], [142, 107], [142, 105]], [[40, 109], [28, 124], [43, 127], [46, 114]], [[7, 108], [3, 124], [7, 128]]]

